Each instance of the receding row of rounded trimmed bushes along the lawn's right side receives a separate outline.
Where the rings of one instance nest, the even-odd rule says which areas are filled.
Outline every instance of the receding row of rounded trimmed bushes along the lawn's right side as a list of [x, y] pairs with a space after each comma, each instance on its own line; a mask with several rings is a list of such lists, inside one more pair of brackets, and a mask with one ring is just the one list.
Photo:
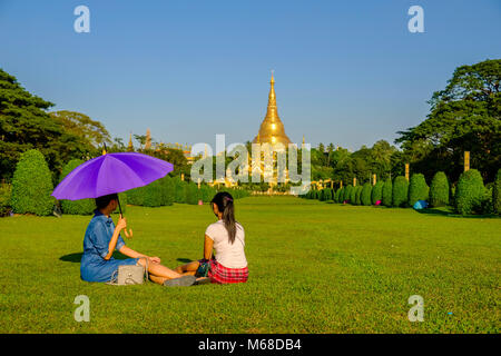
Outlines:
[[435, 174], [429, 187], [424, 176], [412, 175], [410, 181], [403, 176], [393, 181], [389, 178], [374, 186], [346, 186], [337, 189], [310, 190], [303, 196], [307, 199], [352, 205], [383, 205], [386, 207], [412, 207], [419, 200], [425, 200], [432, 207], [453, 205], [456, 212], [501, 214], [501, 169], [494, 184], [484, 187], [482, 176], [470, 169], [460, 176], [458, 186], [451, 187], [444, 172]]

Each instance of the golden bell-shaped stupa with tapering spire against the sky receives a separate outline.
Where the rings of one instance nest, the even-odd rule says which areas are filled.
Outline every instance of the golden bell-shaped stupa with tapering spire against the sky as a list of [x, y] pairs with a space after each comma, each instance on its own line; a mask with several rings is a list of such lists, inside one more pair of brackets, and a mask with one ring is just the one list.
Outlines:
[[253, 144], [282, 144], [284, 148], [291, 144], [287, 135], [285, 135], [284, 123], [282, 123], [278, 117], [278, 111], [276, 108], [276, 96], [275, 96], [275, 79], [269, 81], [269, 95], [268, 95], [268, 108], [266, 110], [266, 116], [261, 123], [259, 132], [254, 138]]

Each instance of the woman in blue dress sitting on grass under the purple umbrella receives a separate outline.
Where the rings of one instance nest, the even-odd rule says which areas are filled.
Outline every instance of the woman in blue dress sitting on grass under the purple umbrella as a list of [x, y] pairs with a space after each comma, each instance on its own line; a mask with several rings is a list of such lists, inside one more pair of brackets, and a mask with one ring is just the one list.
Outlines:
[[[95, 216], [89, 222], [84, 238], [84, 255], [80, 264], [81, 279], [87, 281], [110, 281], [118, 266], [148, 265], [149, 277], [164, 286], [190, 286], [195, 277], [186, 278], [180, 274], [160, 265], [160, 258], [149, 257], [126, 246], [120, 231], [127, 227], [127, 220], [120, 216], [115, 227], [110, 215], [118, 207], [116, 194], [96, 199]], [[130, 258], [115, 259], [114, 250]], [[148, 264], [146, 264], [146, 259]]]

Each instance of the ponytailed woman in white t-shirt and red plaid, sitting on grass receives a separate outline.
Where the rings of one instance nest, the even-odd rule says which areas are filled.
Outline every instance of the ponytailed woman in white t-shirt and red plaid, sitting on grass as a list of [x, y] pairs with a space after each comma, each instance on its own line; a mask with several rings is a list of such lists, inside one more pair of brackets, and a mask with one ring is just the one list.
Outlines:
[[[176, 271], [218, 284], [248, 279], [244, 227], [235, 221], [235, 205], [229, 192], [219, 191], [210, 200], [217, 221], [205, 230], [204, 259], [177, 267]], [[215, 254], [213, 254], [213, 250]]]

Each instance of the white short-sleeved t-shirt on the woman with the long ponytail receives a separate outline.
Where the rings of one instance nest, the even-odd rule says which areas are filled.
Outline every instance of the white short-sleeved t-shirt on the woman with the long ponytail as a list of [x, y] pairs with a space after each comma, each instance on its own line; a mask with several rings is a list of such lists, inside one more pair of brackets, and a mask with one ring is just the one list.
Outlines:
[[205, 230], [205, 235], [214, 240], [214, 250], [217, 263], [227, 268], [244, 268], [247, 267], [247, 259], [245, 258], [245, 231], [244, 227], [238, 222], [236, 225], [235, 241], [229, 243], [228, 231], [225, 222], [218, 220], [210, 224]]

